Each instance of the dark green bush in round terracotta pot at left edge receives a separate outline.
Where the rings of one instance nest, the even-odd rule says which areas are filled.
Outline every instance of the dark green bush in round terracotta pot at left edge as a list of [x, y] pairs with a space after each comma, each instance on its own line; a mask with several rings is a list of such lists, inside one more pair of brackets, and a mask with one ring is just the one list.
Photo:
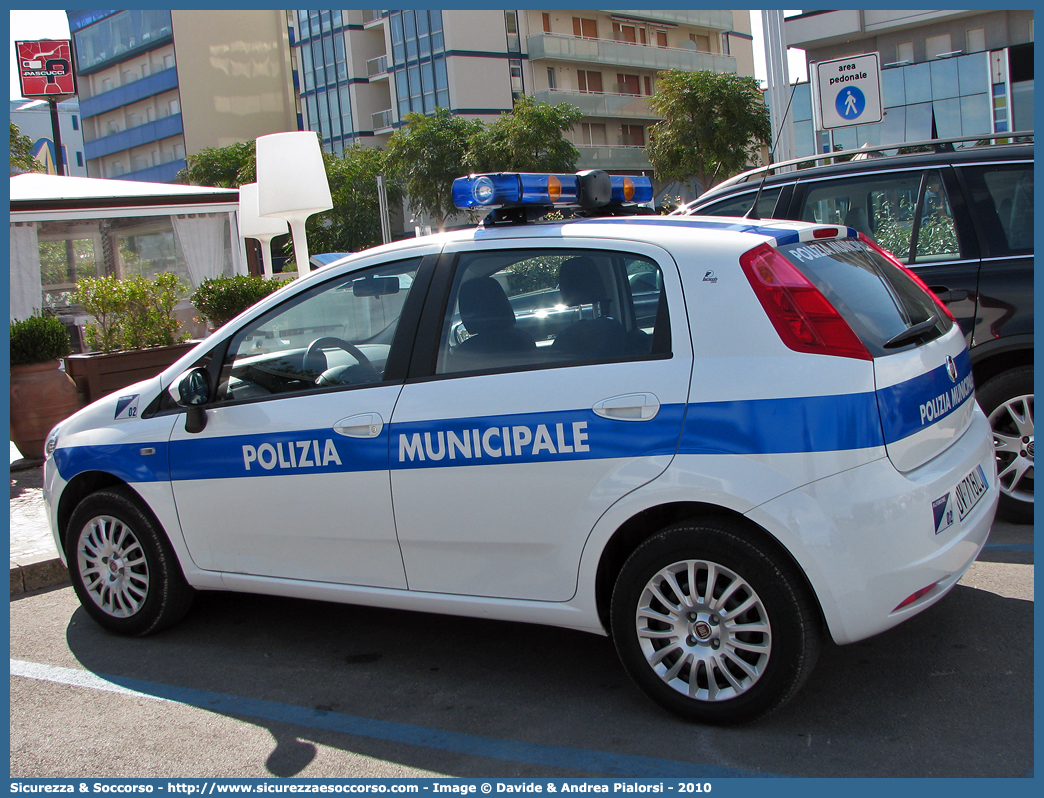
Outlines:
[[54, 316], [10, 325], [10, 440], [26, 457], [41, 457], [55, 424], [80, 407], [76, 385], [61, 370], [69, 333]]

